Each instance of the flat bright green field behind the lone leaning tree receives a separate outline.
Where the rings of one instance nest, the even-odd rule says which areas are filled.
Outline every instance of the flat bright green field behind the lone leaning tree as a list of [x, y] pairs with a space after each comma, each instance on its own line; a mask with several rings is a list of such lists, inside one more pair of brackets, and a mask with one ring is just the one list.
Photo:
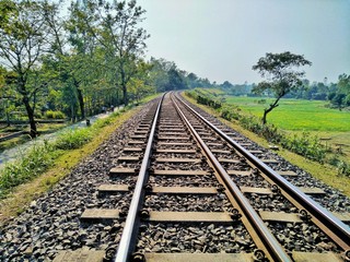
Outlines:
[[[266, 99], [266, 104], [258, 100]], [[226, 103], [262, 117], [264, 108], [273, 99], [258, 97], [226, 97]], [[350, 112], [326, 108], [327, 102], [281, 99], [279, 107], [267, 116], [267, 121], [280, 129], [291, 131], [350, 132]]]

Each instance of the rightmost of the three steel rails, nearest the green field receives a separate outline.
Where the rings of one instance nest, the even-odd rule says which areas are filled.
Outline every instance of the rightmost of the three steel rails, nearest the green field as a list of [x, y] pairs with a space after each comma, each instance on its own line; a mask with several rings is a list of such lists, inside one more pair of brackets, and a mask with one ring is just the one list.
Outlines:
[[262, 163], [259, 158], [254, 156], [250, 152], [245, 150], [242, 145], [231, 139], [228, 134], [221, 131], [219, 128], [213, 126], [210, 121], [208, 121], [205, 117], [198, 114], [195, 109], [192, 109], [187, 103], [185, 103], [182, 98], [177, 97], [188, 109], [190, 109], [196, 116], [198, 116], [203, 122], [208, 124], [212, 130], [219, 133], [225, 141], [228, 141], [236, 151], [238, 151], [242, 155], [244, 155], [250, 163], [253, 163], [260, 171], [267, 175], [277, 186], [279, 186], [287, 194], [298, 201], [298, 203], [314, 216], [317, 223], [322, 224], [325, 228], [320, 229], [329, 236], [343, 251], [348, 251], [350, 249], [350, 227], [342, 223], [338, 217], [327, 211], [325, 207], [320, 206], [310, 196], [307, 196], [304, 192], [276, 172], [268, 165]]

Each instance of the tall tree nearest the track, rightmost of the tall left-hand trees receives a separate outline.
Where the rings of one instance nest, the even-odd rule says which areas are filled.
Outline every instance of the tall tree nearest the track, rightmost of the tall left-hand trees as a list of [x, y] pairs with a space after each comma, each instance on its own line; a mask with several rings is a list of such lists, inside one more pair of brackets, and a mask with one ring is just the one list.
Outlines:
[[[115, 68], [117, 85], [121, 87], [124, 104], [128, 105], [127, 84], [137, 73], [137, 61], [144, 55], [149, 37], [145, 29], [139, 27], [144, 10], [136, 0], [113, 1], [86, 0], [86, 8], [94, 14], [95, 21], [85, 21], [90, 32], [96, 37]], [[118, 87], [117, 86], [117, 87]]]

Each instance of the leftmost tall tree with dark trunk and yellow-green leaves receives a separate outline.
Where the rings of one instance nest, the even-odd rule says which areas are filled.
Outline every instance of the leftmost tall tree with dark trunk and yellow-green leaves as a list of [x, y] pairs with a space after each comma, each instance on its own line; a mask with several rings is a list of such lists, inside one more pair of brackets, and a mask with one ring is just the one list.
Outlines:
[[35, 72], [47, 50], [48, 27], [40, 12], [43, 2], [10, 2], [11, 9], [1, 10], [7, 19], [0, 22], [0, 57], [4, 67], [15, 73], [15, 88], [22, 96], [30, 134], [34, 138], [37, 134], [34, 120], [36, 96], [46, 84], [33, 81], [33, 78], [36, 79]]

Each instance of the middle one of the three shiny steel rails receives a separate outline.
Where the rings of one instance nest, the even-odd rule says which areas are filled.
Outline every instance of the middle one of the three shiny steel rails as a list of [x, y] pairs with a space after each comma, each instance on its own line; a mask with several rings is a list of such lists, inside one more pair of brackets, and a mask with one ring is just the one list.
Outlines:
[[[174, 102], [174, 100], [173, 100]], [[278, 240], [275, 238], [275, 236], [271, 234], [271, 231], [267, 228], [264, 221], [260, 218], [260, 216], [256, 213], [256, 211], [252, 207], [248, 200], [243, 195], [240, 188], [232, 181], [229, 174], [225, 171], [225, 169], [222, 167], [222, 165], [219, 163], [217, 157], [211, 153], [209, 147], [206, 145], [206, 143], [202, 141], [200, 135], [197, 133], [195, 128], [190, 124], [188, 119], [185, 117], [184, 112], [180, 110], [178, 105], [174, 102], [176, 110], [185, 121], [186, 126], [191, 130], [192, 134], [196, 136], [197, 141], [200, 143], [201, 147], [206, 152], [208, 158], [217, 169], [217, 171], [220, 174], [221, 178], [225, 182], [225, 186], [230, 190], [230, 192], [235, 198], [236, 202], [238, 203], [240, 207], [244, 211], [244, 215], [248, 218], [250, 225], [256, 230], [258, 236], [260, 237], [260, 240], [262, 240], [262, 243], [265, 245], [268, 257], [270, 257], [271, 261], [283, 261], [283, 262], [292, 262], [291, 257], [285, 252], [285, 250], [281, 247], [281, 245], [278, 242]]]

